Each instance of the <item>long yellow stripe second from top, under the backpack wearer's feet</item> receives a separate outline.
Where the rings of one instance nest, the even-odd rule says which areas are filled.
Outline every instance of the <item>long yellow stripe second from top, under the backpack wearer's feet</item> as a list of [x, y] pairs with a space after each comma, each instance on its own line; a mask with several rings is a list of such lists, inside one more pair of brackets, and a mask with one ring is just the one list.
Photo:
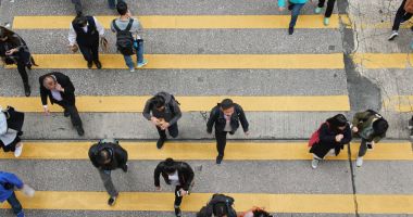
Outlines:
[[[87, 68], [80, 54], [34, 54], [35, 68]], [[121, 54], [101, 54], [103, 68], [127, 68]], [[342, 53], [333, 54], [146, 54], [143, 68], [225, 69], [225, 68], [340, 68]], [[15, 67], [15, 66], [11, 66]]]

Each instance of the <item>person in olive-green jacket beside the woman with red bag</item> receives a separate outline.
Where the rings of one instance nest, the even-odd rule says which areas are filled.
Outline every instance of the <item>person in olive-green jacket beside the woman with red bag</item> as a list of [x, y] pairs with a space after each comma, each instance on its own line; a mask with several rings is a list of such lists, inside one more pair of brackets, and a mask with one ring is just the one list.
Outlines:
[[365, 112], [355, 113], [352, 125], [354, 136], [362, 140], [355, 161], [355, 165], [361, 167], [363, 165], [363, 156], [366, 154], [367, 149], [373, 149], [376, 143], [386, 137], [389, 124], [377, 112], [367, 110]]

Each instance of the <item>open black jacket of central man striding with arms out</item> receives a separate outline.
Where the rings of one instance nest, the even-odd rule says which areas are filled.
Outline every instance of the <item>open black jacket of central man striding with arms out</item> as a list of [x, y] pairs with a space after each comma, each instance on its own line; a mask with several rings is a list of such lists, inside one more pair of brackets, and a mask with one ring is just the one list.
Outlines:
[[[233, 131], [230, 131], [229, 133], [235, 133], [235, 131], [239, 128], [239, 123], [241, 123], [243, 131], [247, 132], [249, 124], [246, 117], [246, 113], [243, 113], [243, 110], [240, 105], [235, 104], [235, 112], [230, 117], [230, 126]], [[212, 132], [212, 127], [214, 126], [214, 124], [216, 131], [224, 131], [226, 119], [224, 117], [224, 112], [221, 111], [221, 106], [218, 105], [212, 108], [210, 119], [208, 119], [206, 131], [209, 133]]]

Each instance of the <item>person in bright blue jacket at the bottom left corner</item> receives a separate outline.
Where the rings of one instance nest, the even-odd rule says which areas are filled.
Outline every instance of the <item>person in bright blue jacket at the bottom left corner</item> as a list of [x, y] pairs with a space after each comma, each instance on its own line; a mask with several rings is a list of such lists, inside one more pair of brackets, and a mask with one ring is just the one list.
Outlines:
[[0, 203], [8, 201], [14, 215], [24, 217], [22, 204], [17, 200], [14, 189], [22, 190], [25, 195], [30, 197], [35, 194], [35, 190], [25, 184], [16, 175], [0, 171]]

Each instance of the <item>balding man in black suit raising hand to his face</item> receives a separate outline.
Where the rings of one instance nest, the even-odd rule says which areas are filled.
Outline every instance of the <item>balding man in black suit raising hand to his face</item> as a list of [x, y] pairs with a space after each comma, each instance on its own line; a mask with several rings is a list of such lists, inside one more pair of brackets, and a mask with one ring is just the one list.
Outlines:
[[46, 115], [49, 115], [48, 97], [52, 104], [64, 108], [64, 116], [71, 116], [72, 124], [76, 128], [77, 133], [82, 137], [85, 135], [79, 113], [75, 104], [75, 87], [71, 79], [62, 73], [53, 72], [46, 74], [39, 78], [40, 97], [43, 104]]

